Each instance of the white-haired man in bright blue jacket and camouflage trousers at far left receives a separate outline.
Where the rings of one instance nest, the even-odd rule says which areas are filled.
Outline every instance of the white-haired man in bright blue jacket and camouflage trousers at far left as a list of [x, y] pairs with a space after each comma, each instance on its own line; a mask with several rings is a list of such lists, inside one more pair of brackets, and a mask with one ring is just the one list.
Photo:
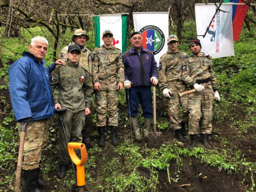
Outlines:
[[[48, 41], [44, 37], [34, 37], [29, 44], [29, 52], [16, 60], [9, 68], [9, 91], [17, 126], [26, 123], [24, 141], [23, 179], [24, 191], [40, 191], [49, 182], [39, 177], [41, 151], [48, 141], [48, 121], [54, 115], [54, 99], [49, 79], [49, 68], [44, 67], [44, 56], [48, 51]], [[61, 61], [57, 60], [55, 63]], [[20, 132], [20, 130], [19, 130]]]

